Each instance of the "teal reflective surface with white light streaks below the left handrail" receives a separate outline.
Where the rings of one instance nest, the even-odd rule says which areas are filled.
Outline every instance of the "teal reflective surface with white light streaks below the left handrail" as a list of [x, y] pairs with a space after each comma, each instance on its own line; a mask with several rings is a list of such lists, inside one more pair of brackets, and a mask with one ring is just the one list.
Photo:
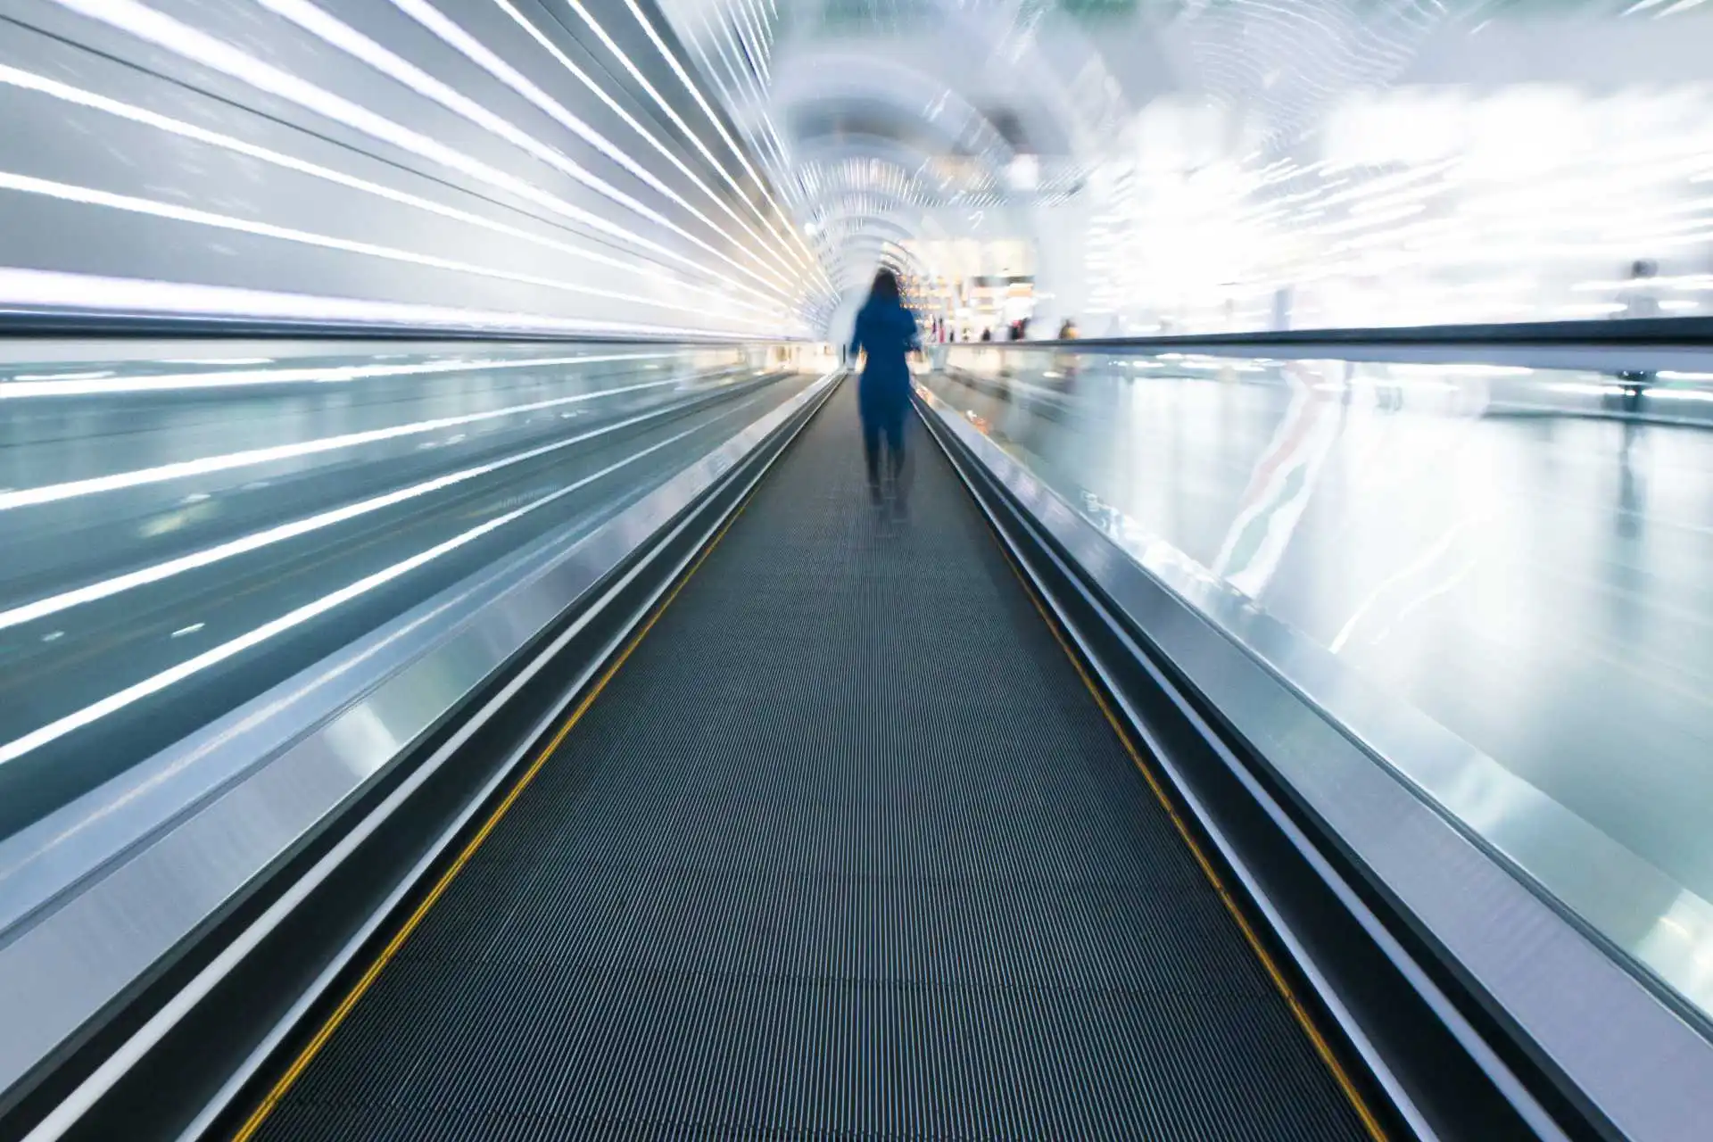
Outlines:
[[0, 377], [0, 837], [809, 380], [648, 346]]

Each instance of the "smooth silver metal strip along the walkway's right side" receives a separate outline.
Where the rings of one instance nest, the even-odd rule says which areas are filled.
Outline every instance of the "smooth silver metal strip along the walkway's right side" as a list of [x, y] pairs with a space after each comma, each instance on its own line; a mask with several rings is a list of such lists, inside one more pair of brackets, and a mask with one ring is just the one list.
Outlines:
[[1261, 752], [1357, 866], [1597, 1116], [1643, 1142], [1704, 1137], [1713, 1043], [1257, 652], [1209, 622], [1191, 599], [1218, 584], [1173, 562], [1172, 551], [1153, 551], [1144, 568], [976, 426], [918, 392], [928, 414]]

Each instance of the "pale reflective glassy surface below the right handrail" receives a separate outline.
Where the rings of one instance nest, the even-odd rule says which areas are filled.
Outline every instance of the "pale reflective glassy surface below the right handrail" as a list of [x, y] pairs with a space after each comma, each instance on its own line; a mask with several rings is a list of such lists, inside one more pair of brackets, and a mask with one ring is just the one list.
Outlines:
[[[1478, 368], [1424, 394], [1340, 363], [995, 356], [927, 384], [1108, 534], [1165, 541], [1662, 870], [1687, 892], [1609, 935], [1650, 957], [1682, 930], [1662, 971], [1713, 996], [1713, 431], [1519, 411]], [[1480, 791], [1451, 800], [1483, 830]]]

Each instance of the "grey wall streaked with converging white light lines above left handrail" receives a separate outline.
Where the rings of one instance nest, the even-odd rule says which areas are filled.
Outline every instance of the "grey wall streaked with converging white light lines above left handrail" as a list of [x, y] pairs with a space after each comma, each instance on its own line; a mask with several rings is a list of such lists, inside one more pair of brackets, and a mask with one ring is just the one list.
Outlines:
[[0, 9], [0, 308], [754, 337], [834, 301], [651, 0]]

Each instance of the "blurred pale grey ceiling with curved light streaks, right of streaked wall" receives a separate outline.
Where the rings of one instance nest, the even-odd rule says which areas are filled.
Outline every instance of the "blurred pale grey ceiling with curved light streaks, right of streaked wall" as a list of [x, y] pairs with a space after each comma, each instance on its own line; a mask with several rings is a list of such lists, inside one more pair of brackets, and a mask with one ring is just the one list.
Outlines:
[[660, 3], [845, 291], [911, 267], [911, 236], [1040, 231], [1161, 101], [1218, 110], [1215, 149], [1264, 170], [1353, 91], [1586, 77], [1631, 33], [1655, 72], [1704, 72], [1660, 46], [1701, 0]]

